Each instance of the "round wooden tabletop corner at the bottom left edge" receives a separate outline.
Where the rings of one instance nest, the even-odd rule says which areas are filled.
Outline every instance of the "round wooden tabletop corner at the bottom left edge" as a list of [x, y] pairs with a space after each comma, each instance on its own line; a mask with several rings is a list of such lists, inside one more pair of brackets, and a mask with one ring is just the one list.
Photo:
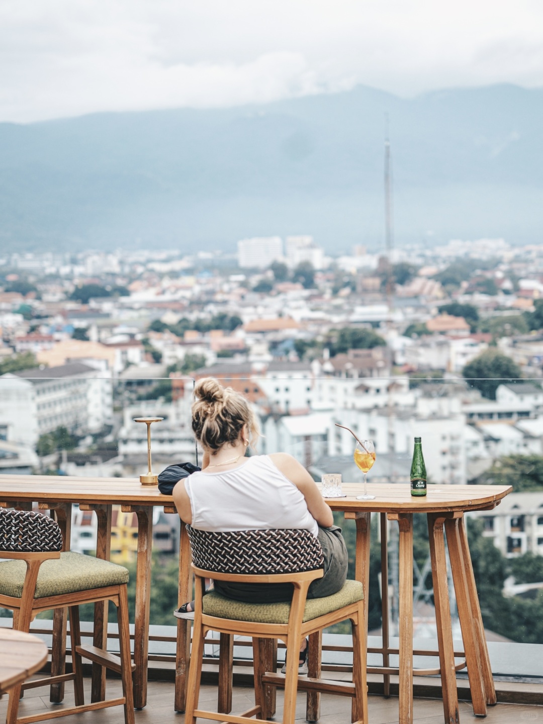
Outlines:
[[0, 695], [40, 670], [47, 653], [46, 644], [38, 636], [0, 628]]

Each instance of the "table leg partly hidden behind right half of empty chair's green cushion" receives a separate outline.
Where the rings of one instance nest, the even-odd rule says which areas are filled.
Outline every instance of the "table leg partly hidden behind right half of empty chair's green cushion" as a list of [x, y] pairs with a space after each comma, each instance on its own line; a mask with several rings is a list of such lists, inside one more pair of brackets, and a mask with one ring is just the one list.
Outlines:
[[[80, 505], [80, 510], [94, 510], [98, 519], [96, 531], [96, 557], [109, 560], [111, 557], [111, 505]], [[107, 648], [107, 602], [94, 604], [93, 646]], [[93, 663], [90, 683], [90, 701], [103, 702], [106, 698], [106, 667]]]

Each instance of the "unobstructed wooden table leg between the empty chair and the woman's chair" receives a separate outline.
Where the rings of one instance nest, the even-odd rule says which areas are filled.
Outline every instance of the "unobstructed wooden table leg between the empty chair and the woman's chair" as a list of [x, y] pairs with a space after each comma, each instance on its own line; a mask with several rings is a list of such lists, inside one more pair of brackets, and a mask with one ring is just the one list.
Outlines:
[[[138, 515], [138, 560], [136, 563], [136, 599], [134, 621], [134, 707], [147, 704], [147, 660], [149, 652], [149, 607], [151, 604], [151, 552], [153, 547], [153, 508], [132, 505]], [[121, 510], [125, 510], [122, 506]]]

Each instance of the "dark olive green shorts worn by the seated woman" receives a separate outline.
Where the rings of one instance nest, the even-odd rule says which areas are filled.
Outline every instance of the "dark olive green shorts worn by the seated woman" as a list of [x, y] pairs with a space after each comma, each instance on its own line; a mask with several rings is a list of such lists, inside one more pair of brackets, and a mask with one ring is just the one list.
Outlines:
[[[308, 590], [308, 598], [332, 596], [342, 589], [347, 578], [348, 554], [345, 541], [338, 526], [321, 528], [319, 542], [324, 558], [324, 576], [313, 581]], [[279, 603], [292, 600], [292, 584], [231, 584], [228, 581], [215, 581], [217, 593], [244, 603]]]

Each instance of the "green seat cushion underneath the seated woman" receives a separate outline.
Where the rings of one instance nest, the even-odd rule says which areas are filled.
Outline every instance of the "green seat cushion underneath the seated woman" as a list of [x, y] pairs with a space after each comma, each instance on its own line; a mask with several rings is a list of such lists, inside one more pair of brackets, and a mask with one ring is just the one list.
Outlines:
[[[364, 597], [360, 581], [345, 581], [343, 588], [332, 596], [310, 598], [306, 601], [303, 620], [311, 621], [338, 608], [361, 601]], [[203, 613], [217, 618], [230, 618], [254, 623], [288, 623], [290, 602], [242, 603], [221, 594], [210, 592], [203, 597]]]

